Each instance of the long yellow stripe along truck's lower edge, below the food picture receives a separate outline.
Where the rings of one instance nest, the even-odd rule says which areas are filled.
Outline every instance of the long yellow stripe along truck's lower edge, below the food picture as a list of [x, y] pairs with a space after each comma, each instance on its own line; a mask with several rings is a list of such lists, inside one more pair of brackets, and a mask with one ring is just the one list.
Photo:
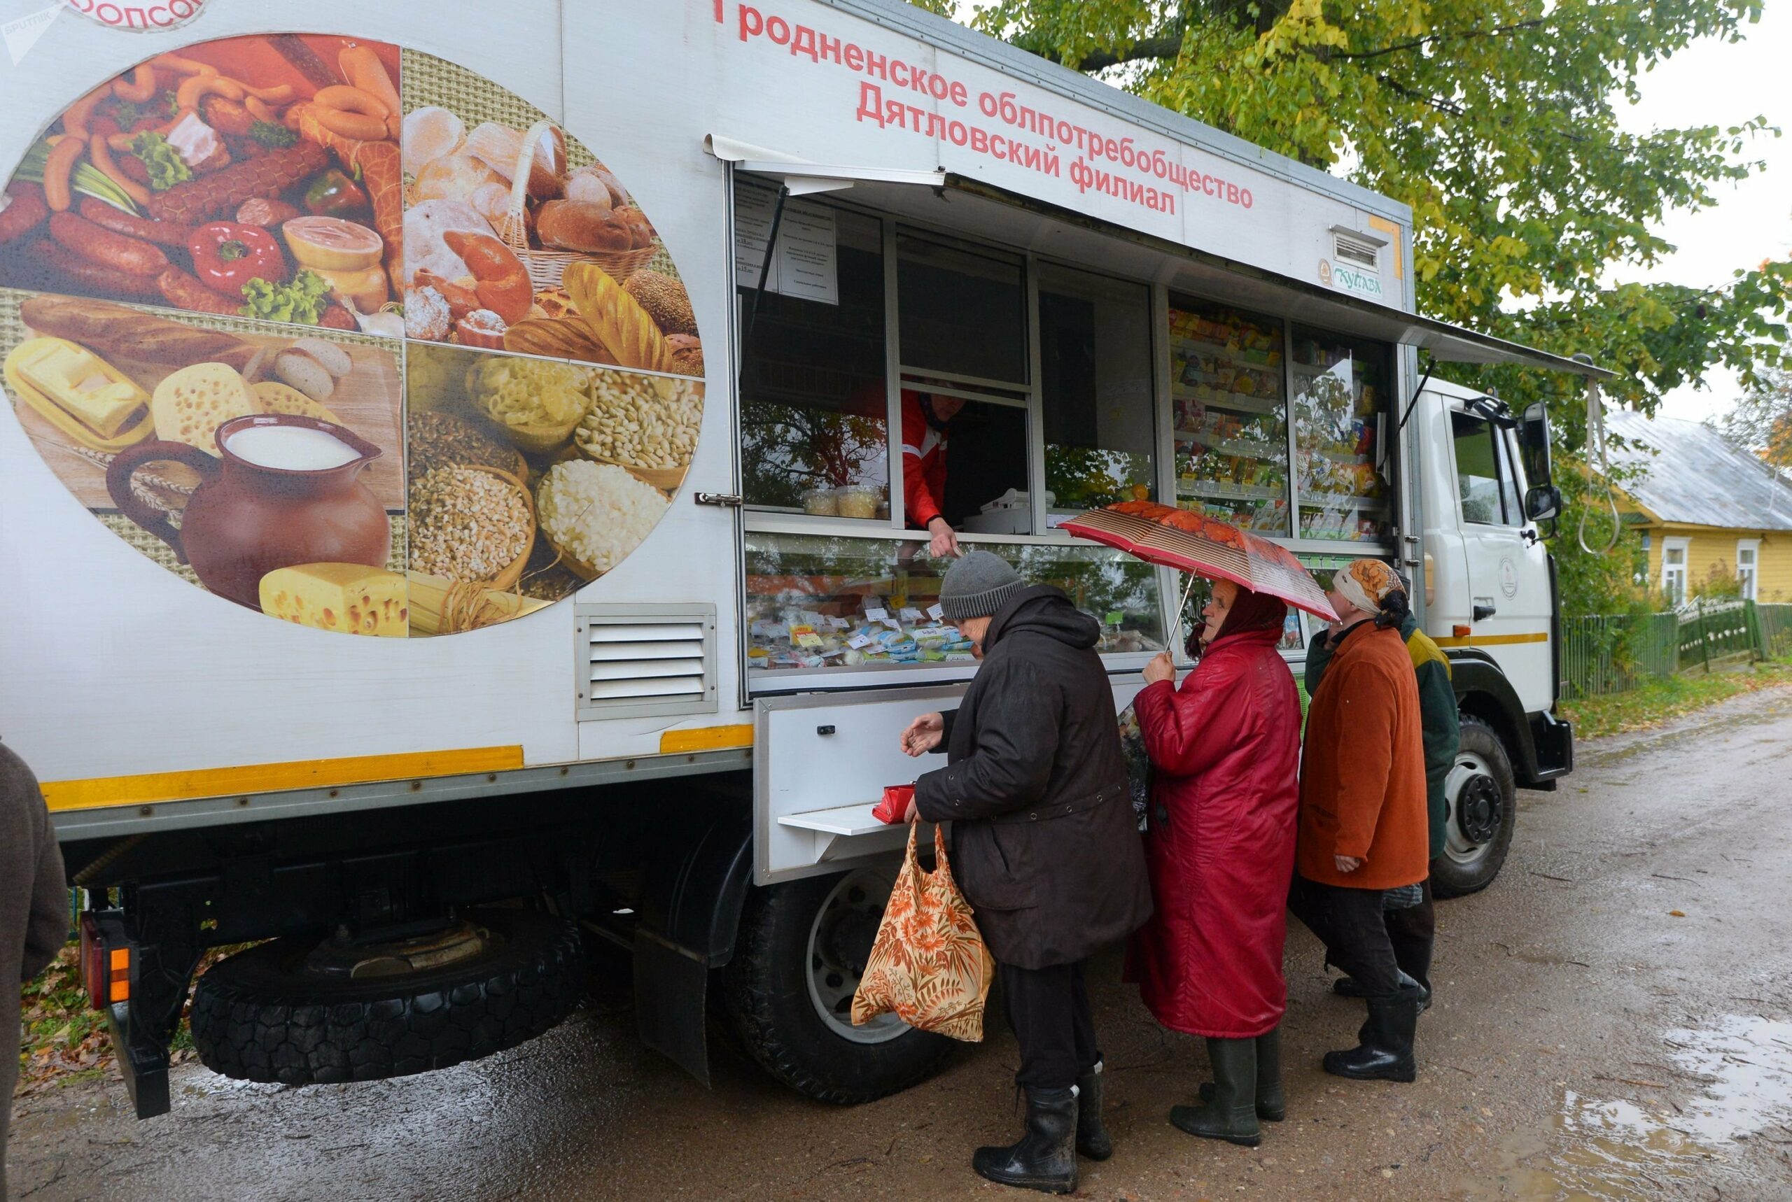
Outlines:
[[335, 785], [366, 785], [367, 781], [401, 781], [405, 777], [509, 772], [520, 767], [523, 767], [523, 749], [520, 745], [459, 747], [452, 751], [414, 751], [396, 756], [344, 756], [340, 760], [251, 763], [233, 768], [95, 776], [84, 781], [45, 781], [43, 799], [50, 804], [50, 810], [95, 810], [100, 806], [186, 801], [192, 797], [271, 794], [287, 788], [330, 788]]

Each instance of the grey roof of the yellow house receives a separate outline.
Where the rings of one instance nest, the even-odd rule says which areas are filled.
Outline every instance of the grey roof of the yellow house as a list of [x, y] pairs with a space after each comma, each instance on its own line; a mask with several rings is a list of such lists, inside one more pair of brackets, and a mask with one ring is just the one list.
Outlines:
[[1629, 442], [1613, 446], [1611, 459], [1647, 469], [1624, 491], [1661, 521], [1792, 530], [1792, 484], [1710, 426], [1629, 410], [1606, 414], [1606, 426]]

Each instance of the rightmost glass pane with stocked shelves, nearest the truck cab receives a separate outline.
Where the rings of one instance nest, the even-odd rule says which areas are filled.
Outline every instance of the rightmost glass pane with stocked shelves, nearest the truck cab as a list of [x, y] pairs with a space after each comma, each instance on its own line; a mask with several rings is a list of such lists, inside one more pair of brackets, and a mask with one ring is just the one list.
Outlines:
[[1294, 331], [1294, 468], [1303, 539], [1385, 543], [1389, 362], [1374, 342]]

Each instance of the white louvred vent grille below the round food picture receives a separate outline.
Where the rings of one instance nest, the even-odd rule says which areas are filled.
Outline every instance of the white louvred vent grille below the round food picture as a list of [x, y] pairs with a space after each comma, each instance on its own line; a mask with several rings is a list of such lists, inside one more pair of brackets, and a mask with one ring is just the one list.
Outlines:
[[579, 605], [579, 720], [715, 713], [715, 605]]

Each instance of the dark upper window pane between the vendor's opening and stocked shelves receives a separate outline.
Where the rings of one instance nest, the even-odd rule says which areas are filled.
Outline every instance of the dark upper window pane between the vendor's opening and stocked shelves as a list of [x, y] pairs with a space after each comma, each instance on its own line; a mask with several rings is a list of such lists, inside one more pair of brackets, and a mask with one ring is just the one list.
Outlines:
[[1048, 518], [1152, 494], [1150, 292], [1039, 267]]

